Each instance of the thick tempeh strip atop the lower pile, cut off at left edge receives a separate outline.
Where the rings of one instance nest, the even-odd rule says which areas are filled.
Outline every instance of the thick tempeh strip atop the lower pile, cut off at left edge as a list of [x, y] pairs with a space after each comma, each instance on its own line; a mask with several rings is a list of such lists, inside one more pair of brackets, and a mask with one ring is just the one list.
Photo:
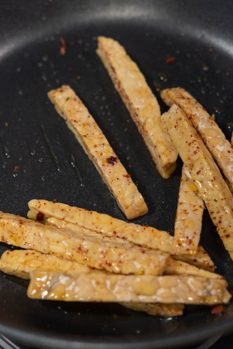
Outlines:
[[0, 212], [0, 241], [122, 274], [161, 275], [169, 257], [160, 251], [105, 242], [3, 212]]

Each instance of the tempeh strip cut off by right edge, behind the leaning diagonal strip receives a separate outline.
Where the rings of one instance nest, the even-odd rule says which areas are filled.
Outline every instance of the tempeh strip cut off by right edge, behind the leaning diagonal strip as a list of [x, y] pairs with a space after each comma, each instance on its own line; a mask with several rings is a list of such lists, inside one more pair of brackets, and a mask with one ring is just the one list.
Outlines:
[[189, 116], [220, 169], [233, 185], [233, 146], [203, 106], [181, 87], [163, 90], [161, 97], [167, 105], [175, 103]]

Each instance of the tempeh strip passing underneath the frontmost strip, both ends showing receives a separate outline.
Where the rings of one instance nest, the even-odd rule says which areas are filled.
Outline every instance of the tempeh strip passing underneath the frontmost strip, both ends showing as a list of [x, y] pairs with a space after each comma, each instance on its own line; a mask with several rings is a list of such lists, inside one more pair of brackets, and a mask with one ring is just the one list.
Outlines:
[[[51, 254], [44, 254], [34, 250], [7, 250], [0, 258], [2, 272], [30, 279], [30, 272], [57, 271], [67, 274], [103, 273], [103, 270], [93, 269], [75, 261], [59, 258]], [[137, 311], [144, 311], [150, 315], [162, 317], [179, 316], [183, 314], [181, 304], [127, 303], [123, 306]]]

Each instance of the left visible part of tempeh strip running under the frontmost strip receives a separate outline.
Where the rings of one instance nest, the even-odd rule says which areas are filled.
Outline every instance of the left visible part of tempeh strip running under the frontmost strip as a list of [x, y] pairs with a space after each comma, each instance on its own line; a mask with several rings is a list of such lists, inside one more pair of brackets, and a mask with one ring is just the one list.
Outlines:
[[[7, 250], [0, 258], [0, 270], [6, 274], [15, 275], [22, 279], [30, 279], [32, 270], [58, 271], [61, 273], [89, 273], [93, 268], [65, 258], [56, 257], [34, 250]], [[96, 269], [98, 273], [102, 270]]]

